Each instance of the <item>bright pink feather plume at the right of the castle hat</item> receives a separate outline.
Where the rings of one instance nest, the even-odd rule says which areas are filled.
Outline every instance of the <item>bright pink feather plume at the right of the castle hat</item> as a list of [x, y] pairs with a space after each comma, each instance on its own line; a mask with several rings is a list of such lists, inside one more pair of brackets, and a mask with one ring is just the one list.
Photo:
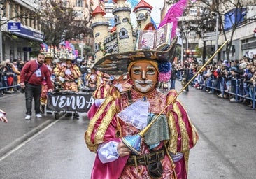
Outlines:
[[167, 11], [166, 15], [164, 16], [164, 20], [159, 24], [157, 29], [162, 27], [164, 24], [173, 22], [173, 29], [171, 31], [171, 38], [176, 35], [176, 27], [178, 25], [178, 17], [183, 15], [183, 10], [187, 5], [187, 0], [180, 0], [177, 3], [173, 4], [171, 8]]

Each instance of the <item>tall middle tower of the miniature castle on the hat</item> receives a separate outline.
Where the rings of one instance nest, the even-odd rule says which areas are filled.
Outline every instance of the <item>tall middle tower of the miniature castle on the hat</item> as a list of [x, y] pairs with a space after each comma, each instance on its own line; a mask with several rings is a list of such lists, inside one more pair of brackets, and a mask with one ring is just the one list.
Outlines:
[[113, 15], [118, 39], [118, 51], [128, 52], [134, 50], [132, 26], [130, 20], [131, 8], [125, 3], [126, 0], [113, 0]]

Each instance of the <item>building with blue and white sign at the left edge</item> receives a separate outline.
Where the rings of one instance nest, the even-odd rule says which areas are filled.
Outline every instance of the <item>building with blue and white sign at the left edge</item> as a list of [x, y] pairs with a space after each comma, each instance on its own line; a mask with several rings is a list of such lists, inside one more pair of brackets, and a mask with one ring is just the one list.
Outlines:
[[31, 41], [43, 41], [41, 25], [36, 18], [38, 1], [1, 1], [0, 53], [1, 60], [29, 60]]

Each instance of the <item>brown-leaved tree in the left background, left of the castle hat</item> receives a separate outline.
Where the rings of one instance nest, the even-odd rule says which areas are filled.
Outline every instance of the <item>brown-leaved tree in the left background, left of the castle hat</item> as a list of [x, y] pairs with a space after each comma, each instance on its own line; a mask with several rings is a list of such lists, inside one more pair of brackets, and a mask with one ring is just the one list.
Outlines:
[[92, 29], [88, 27], [91, 17], [78, 20], [79, 12], [66, 6], [65, 1], [49, 0], [41, 6], [38, 17], [45, 35], [45, 43], [57, 45], [64, 40], [92, 36]]

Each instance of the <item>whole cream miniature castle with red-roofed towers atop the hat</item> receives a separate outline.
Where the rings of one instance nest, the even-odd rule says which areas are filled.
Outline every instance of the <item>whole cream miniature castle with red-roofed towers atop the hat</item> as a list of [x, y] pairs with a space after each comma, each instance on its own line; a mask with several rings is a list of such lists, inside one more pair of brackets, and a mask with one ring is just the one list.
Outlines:
[[[113, 15], [115, 26], [109, 31], [108, 21], [104, 17], [105, 11], [97, 6], [92, 13], [92, 29], [94, 34], [95, 62], [106, 54], [134, 51], [136, 32], [132, 28], [130, 15], [131, 8], [125, 3], [126, 0], [113, 0]], [[136, 13], [138, 30], [143, 30], [150, 23], [152, 6], [141, 0], [134, 8]]]

